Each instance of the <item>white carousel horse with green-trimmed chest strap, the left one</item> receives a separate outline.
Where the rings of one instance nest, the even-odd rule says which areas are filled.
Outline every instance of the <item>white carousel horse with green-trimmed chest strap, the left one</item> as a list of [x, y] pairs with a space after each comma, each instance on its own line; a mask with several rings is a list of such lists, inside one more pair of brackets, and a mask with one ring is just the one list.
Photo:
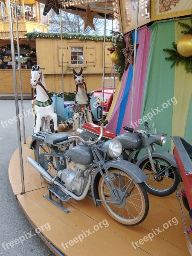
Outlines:
[[[40, 66], [32, 67], [30, 84], [32, 88], [36, 88], [35, 113], [34, 113], [34, 132], [39, 132], [42, 125], [42, 118], [50, 117], [54, 123], [54, 131], [57, 132], [57, 114], [54, 113], [52, 107], [52, 99], [47, 93], [44, 74], [41, 72]], [[35, 119], [37, 116], [37, 120]], [[36, 121], [36, 126], [35, 126]]]

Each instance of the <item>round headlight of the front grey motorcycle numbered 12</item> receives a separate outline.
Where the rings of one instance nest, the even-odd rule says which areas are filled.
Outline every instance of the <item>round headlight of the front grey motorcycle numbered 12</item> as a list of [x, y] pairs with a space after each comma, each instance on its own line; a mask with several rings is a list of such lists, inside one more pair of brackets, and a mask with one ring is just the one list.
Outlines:
[[122, 145], [119, 140], [108, 140], [104, 143], [103, 148], [108, 151], [108, 156], [117, 158], [122, 153]]

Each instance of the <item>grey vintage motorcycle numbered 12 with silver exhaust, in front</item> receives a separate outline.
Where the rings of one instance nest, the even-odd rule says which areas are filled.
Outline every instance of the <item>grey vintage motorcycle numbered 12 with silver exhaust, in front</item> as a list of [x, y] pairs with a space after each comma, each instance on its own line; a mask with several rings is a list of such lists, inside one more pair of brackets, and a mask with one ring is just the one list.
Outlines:
[[[101, 141], [107, 122], [102, 123], [94, 141], [68, 132], [32, 134], [30, 148], [35, 151], [36, 161], [27, 159], [48, 183], [64, 193], [65, 201], [82, 200], [91, 191], [96, 206], [102, 204], [113, 219], [134, 226], [148, 214], [148, 195], [143, 187], [147, 176], [134, 164], [117, 159], [122, 153], [118, 140]], [[79, 145], [70, 148], [74, 138]], [[70, 162], [73, 169], [67, 168]]]

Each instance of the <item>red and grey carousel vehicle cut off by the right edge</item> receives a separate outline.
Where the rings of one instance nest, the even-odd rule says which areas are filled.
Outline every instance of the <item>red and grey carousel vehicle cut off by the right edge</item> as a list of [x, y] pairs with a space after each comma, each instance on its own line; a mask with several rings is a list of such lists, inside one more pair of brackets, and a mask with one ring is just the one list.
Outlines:
[[180, 214], [182, 217], [182, 223], [184, 227], [184, 234], [186, 237], [186, 244], [190, 254], [192, 255], [192, 244], [189, 239], [189, 233], [192, 232], [192, 224], [190, 227], [186, 227], [186, 221], [180, 201], [182, 197], [183, 205], [189, 212], [189, 218], [192, 220], [192, 145], [179, 136], [172, 136], [175, 148], [173, 149], [173, 155], [177, 162], [177, 166], [183, 181], [184, 188], [179, 192], [181, 184], [177, 187], [177, 199], [179, 202]]

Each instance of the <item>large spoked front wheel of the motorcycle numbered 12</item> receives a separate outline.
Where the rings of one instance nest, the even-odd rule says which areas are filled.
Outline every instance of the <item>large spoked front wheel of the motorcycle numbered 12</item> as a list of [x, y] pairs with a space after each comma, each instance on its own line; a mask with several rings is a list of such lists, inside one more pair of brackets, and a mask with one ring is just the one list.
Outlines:
[[[125, 172], [118, 169], [109, 170], [113, 184], [116, 187], [116, 191], [119, 195], [122, 194], [123, 188], [130, 184], [133, 180], [131, 176]], [[105, 173], [105, 177], [107, 174]], [[120, 179], [120, 180], [119, 180]], [[120, 183], [121, 181], [121, 183]], [[123, 184], [122, 184], [123, 182]], [[122, 184], [120, 188], [120, 184]], [[114, 200], [111, 198], [111, 192], [105, 183], [103, 177], [99, 180], [99, 198], [101, 200]], [[135, 226], [140, 224], [146, 218], [148, 214], [149, 201], [148, 195], [143, 188], [143, 183], [136, 183], [134, 180], [128, 189], [128, 193], [131, 192], [131, 196], [127, 195], [125, 201], [122, 201], [121, 205], [108, 204], [106, 202], [101, 202], [106, 212], [119, 223], [125, 224], [127, 226]]]

